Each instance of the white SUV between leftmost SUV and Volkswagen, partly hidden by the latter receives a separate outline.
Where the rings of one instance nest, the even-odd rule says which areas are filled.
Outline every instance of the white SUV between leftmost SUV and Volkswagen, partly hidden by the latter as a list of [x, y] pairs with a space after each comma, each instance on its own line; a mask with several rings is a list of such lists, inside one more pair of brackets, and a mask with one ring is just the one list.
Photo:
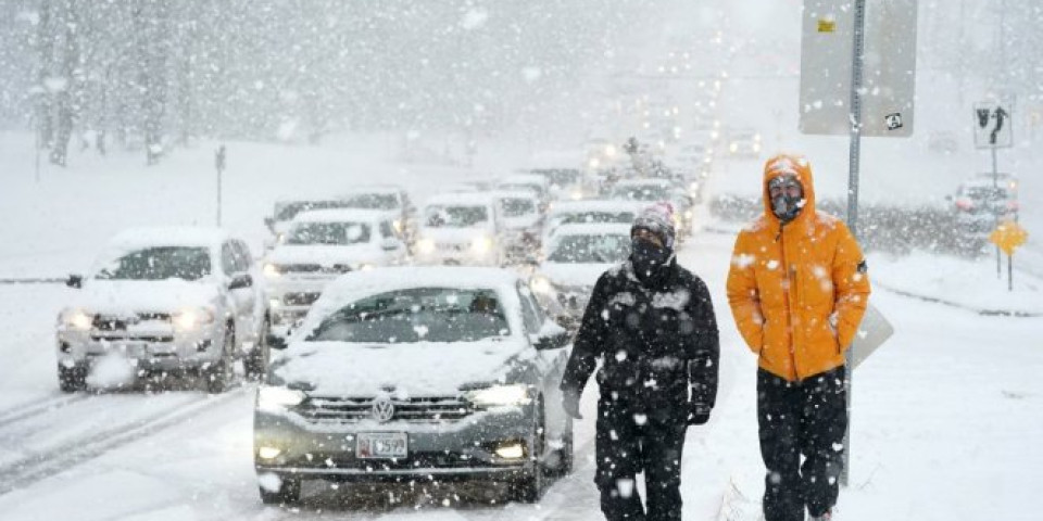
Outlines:
[[264, 259], [273, 331], [304, 318], [334, 279], [349, 271], [405, 264], [406, 245], [382, 209], [318, 209], [298, 214]]

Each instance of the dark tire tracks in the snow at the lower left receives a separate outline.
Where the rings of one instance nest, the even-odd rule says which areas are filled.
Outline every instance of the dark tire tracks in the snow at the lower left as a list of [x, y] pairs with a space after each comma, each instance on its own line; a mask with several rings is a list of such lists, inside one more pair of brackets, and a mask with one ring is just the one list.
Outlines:
[[[35, 452], [0, 466], [0, 495], [50, 478], [110, 450], [180, 424], [185, 419], [202, 410], [230, 402], [249, 389], [238, 386], [218, 396], [201, 396], [186, 404], [93, 432], [88, 436], [76, 439], [56, 447]], [[50, 409], [43, 408], [42, 411], [47, 410]], [[26, 418], [38, 414], [28, 415]], [[9, 419], [9, 423], [15, 420]]]

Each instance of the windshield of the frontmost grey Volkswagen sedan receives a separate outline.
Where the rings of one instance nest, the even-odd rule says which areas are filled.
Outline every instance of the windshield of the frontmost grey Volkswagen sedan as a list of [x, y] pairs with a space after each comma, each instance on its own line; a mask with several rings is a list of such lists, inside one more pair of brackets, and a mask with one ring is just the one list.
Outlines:
[[474, 342], [511, 332], [493, 290], [412, 288], [362, 298], [328, 316], [314, 342]]

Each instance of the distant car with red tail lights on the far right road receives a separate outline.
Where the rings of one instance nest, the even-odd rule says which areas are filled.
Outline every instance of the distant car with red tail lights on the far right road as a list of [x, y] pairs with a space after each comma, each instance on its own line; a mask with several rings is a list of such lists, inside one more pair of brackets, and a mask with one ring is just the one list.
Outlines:
[[997, 221], [1017, 215], [1018, 180], [1009, 175], [993, 179], [992, 174], [981, 174], [960, 183], [950, 199], [962, 231], [988, 233]]

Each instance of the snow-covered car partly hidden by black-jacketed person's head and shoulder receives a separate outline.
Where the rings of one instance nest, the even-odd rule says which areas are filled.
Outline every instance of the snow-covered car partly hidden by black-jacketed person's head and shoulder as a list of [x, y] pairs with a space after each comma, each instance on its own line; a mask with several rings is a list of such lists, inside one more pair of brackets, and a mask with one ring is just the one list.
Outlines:
[[562, 225], [554, 232], [530, 285], [560, 323], [578, 327], [598, 278], [630, 256], [630, 226]]

